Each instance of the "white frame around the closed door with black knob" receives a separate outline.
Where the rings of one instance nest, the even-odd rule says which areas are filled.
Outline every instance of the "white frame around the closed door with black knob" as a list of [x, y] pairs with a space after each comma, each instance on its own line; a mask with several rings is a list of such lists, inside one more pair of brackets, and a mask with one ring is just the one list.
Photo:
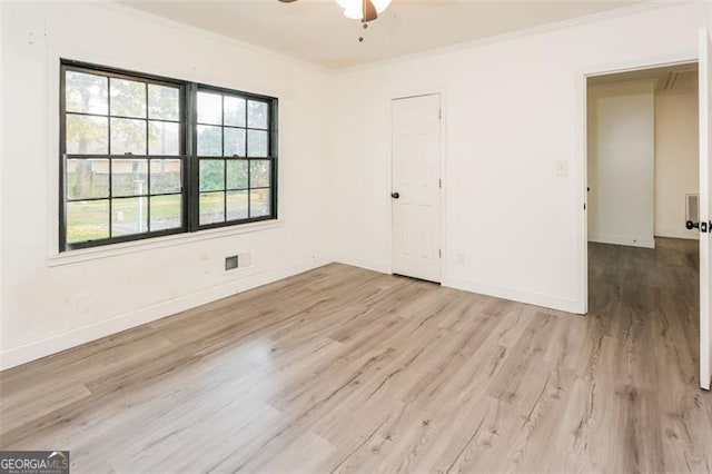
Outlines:
[[446, 92], [445, 92], [445, 88], [441, 87], [441, 88], [435, 88], [435, 89], [418, 89], [418, 90], [411, 90], [411, 91], [399, 91], [399, 92], [393, 92], [389, 95], [388, 98], [388, 117], [389, 117], [389, 154], [388, 154], [388, 189], [387, 192], [384, 192], [384, 196], [386, 196], [386, 198], [388, 199], [388, 211], [387, 211], [387, 217], [388, 217], [388, 253], [390, 255], [389, 258], [389, 268], [388, 268], [388, 273], [390, 275], [394, 274], [393, 269], [394, 269], [394, 265], [393, 265], [393, 260], [394, 260], [394, 254], [393, 254], [393, 241], [394, 241], [394, 237], [393, 237], [393, 203], [392, 203], [392, 198], [390, 198], [390, 192], [393, 191], [393, 102], [395, 100], [403, 100], [403, 99], [413, 99], [413, 98], [417, 98], [417, 97], [427, 97], [427, 96], [439, 96], [441, 98], [441, 120], [439, 120], [439, 141], [441, 141], [441, 156], [439, 156], [439, 179], [442, 179], [443, 186], [439, 188], [439, 192], [438, 192], [438, 197], [439, 197], [439, 216], [438, 216], [438, 239], [441, 243], [441, 250], [442, 250], [442, 255], [441, 255], [441, 278], [439, 278], [439, 285], [443, 285], [444, 282], [446, 280], [447, 276], [446, 276], [446, 268], [447, 266], [444, 264], [445, 258], [447, 256], [447, 251], [446, 251], [446, 233], [445, 233], [445, 224], [446, 224], [446, 209], [447, 209], [447, 192], [445, 192], [445, 189], [447, 187], [447, 179], [445, 179], [445, 170], [447, 169], [446, 167], [446, 149], [447, 149], [447, 145], [446, 145], [446, 140], [445, 135], [446, 135], [446, 127], [447, 127], [447, 109], [446, 109]]

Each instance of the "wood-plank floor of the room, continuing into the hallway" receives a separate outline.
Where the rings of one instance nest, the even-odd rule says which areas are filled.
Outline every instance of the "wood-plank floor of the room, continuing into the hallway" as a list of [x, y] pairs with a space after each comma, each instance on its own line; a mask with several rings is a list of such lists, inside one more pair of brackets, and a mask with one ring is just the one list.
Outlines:
[[329, 265], [0, 373], [0, 447], [101, 472], [710, 472], [696, 243], [574, 316]]

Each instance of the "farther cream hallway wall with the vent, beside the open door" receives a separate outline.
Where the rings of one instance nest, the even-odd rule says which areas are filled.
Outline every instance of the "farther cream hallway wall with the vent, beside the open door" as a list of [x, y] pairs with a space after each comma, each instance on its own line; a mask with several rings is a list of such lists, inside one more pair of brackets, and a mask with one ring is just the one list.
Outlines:
[[685, 195], [700, 191], [700, 117], [696, 87], [655, 96], [655, 235], [699, 239], [688, 230]]

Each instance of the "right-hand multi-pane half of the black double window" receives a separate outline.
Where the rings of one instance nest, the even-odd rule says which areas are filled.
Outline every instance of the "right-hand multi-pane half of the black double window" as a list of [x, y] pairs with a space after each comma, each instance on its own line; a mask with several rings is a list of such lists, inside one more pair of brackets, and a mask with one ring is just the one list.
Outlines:
[[198, 90], [200, 225], [271, 214], [269, 102]]

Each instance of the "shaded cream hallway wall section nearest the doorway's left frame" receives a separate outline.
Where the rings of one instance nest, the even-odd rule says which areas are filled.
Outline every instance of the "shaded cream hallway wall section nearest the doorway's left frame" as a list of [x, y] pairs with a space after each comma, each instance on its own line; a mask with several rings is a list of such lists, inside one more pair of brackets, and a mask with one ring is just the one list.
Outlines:
[[655, 81], [589, 86], [589, 240], [655, 247]]

